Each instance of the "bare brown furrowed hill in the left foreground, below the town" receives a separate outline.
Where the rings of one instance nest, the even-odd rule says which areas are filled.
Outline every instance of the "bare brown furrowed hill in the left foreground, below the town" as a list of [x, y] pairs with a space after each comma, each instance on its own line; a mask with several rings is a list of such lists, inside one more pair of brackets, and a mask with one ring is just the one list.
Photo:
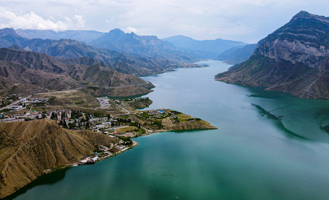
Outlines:
[[78, 162], [92, 153], [94, 145], [116, 142], [101, 133], [69, 131], [47, 119], [0, 122], [0, 198], [48, 169]]

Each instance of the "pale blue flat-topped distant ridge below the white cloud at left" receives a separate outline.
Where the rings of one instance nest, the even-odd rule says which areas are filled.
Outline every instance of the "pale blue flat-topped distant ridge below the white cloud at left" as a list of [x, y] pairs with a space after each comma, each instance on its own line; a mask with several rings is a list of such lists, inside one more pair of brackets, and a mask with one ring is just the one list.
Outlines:
[[76, 39], [83, 42], [90, 42], [94, 39], [97, 39], [98, 37], [101, 37], [104, 33], [98, 32], [98, 31], [62, 31], [56, 33], [55, 31], [51, 30], [23, 30], [23, 29], [17, 29], [16, 33], [20, 35], [21, 37], [26, 37], [29, 39], [33, 38], [41, 38], [41, 39]]

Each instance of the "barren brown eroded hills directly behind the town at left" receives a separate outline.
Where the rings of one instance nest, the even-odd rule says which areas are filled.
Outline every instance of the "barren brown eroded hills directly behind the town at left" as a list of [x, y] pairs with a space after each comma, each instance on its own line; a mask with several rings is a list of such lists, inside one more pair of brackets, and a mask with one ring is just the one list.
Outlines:
[[[0, 92], [32, 92], [41, 88], [68, 90], [93, 87], [98, 95], [111, 95], [117, 88], [131, 86], [133, 95], [148, 93], [146, 88], [154, 87], [134, 75], [123, 74], [115, 70], [77, 63], [74, 59], [52, 57], [46, 54], [17, 50], [19, 47], [0, 49]], [[132, 85], [137, 85], [132, 87]], [[95, 89], [96, 88], [96, 89]], [[107, 88], [107, 89], [104, 89]], [[123, 89], [123, 88], [121, 88]]]

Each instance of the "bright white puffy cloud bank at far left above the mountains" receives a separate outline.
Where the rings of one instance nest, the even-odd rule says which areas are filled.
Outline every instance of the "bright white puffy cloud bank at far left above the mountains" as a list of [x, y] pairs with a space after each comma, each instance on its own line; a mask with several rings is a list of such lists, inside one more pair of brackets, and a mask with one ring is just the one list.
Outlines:
[[52, 30], [55, 32], [65, 31], [73, 27], [85, 27], [86, 21], [82, 15], [74, 15], [74, 17], [63, 17], [65, 21], [55, 21], [54, 17], [49, 16], [49, 19], [43, 19], [34, 12], [16, 15], [4, 8], [0, 8], [0, 17], [9, 20], [8, 23], [0, 23], [0, 28], [14, 28], [14, 29], [39, 29]]

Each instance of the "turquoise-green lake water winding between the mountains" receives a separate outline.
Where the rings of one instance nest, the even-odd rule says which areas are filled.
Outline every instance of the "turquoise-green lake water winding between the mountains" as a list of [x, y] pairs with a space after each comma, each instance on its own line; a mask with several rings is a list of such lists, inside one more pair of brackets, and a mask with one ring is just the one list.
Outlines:
[[214, 81], [231, 65], [142, 77], [148, 109], [174, 109], [218, 130], [135, 138], [95, 165], [38, 178], [7, 199], [329, 199], [329, 101]]

